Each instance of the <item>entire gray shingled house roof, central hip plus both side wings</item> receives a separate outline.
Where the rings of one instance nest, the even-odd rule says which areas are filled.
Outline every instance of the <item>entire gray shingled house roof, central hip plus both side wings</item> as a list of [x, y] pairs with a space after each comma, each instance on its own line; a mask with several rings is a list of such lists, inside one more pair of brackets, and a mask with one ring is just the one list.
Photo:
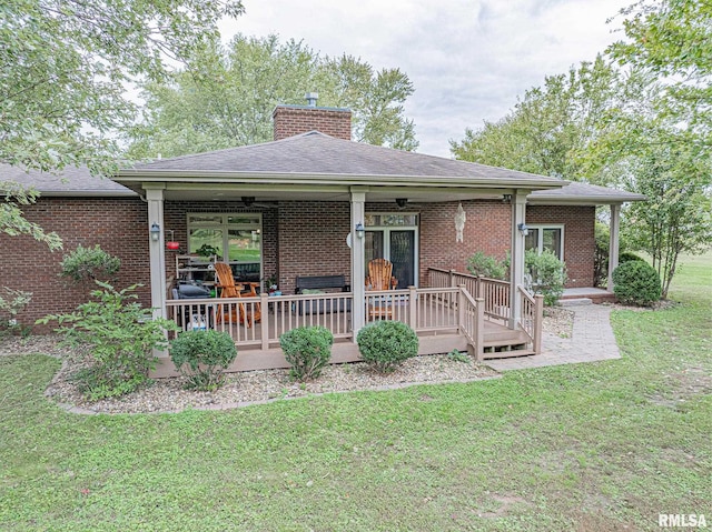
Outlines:
[[[275, 142], [251, 144], [226, 150], [197, 153], [120, 170], [115, 178], [132, 187], [140, 187], [141, 177], [160, 175], [170, 181], [195, 175], [220, 175], [238, 180], [240, 175], [259, 178], [267, 174], [322, 175], [334, 182], [345, 177], [366, 177], [379, 184], [389, 184], [396, 178], [417, 183], [436, 179], [449, 184], [476, 180], [490, 187], [546, 187], [530, 195], [534, 204], [580, 203], [605, 204], [640, 201], [644, 197], [585, 183], [567, 183], [555, 178], [456, 161], [442, 157], [405, 152], [360, 142], [352, 142], [312, 131]], [[110, 179], [92, 177], [88, 169], [66, 168], [60, 175], [30, 171], [0, 163], [0, 180], [12, 180], [32, 185], [46, 195], [66, 197], [120, 197], [136, 192]], [[563, 188], [557, 188], [563, 185]], [[552, 188], [553, 187], [553, 188]]]

